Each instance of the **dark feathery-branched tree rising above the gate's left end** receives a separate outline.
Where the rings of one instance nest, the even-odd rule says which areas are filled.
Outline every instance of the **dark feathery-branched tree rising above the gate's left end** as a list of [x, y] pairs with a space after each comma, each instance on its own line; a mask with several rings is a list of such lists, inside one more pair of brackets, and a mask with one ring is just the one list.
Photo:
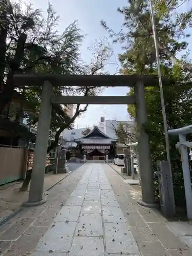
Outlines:
[[[55, 27], [59, 16], [52, 5], [48, 6], [47, 18], [42, 18], [41, 10], [27, 5], [23, 11], [22, 2], [15, 3], [6, 18], [9, 26], [6, 27], [5, 58], [1, 62], [4, 90], [0, 94], [0, 114], [12, 98], [15, 73], [70, 74], [82, 71], [79, 46], [83, 35], [76, 22], [58, 34]], [[35, 89], [39, 94], [41, 89]], [[55, 90], [61, 92], [67, 89]]]

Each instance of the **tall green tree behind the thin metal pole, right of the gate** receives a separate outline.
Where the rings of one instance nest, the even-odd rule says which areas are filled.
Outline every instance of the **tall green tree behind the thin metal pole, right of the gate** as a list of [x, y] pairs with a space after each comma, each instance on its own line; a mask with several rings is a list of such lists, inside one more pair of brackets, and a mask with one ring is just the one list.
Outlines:
[[[129, 1], [129, 3], [129, 6], [119, 8], [119, 11], [125, 16], [125, 23], [121, 32], [116, 33], [106, 27], [105, 23], [102, 23], [111, 35], [115, 36], [114, 40], [120, 42], [123, 46], [124, 53], [119, 55], [122, 66], [121, 73], [157, 75], [155, 46], [148, 3], [147, 1], [140, 0]], [[163, 5], [161, 5], [162, 3]], [[164, 8], [165, 3], [166, 8]], [[160, 42], [158, 44], [161, 73], [162, 77], [165, 78], [163, 92], [168, 129], [176, 129], [191, 124], [192, 116], [192, 90], [189, 87], [183, 86], [184, 83], [187, 83], [191, 79], [191, 73], [189, 72], [191, 70], [191, 63], [187, 60], [187, 54], [182, 56], [181, 60], [175, 57], [177, 53], [187, 50], [185, 39], [189, 35], [186, 33], [186, 28], [188, 25], [191, 25], [191, 10], [186, 13], [177, 12], [177, 6], [180, 3], [182, 2], [155, 1], [157, 37], [158, 42]], [[133, 93], [134, 90], [131, 89], [128, 95], [132, 95]], [[159, 88], [146, 87], [145, 100], [147, 122], [143, 128], [150, 137], [152, 168], [153, 172], [156, 173], [156, 161], [166, 160]], [[133, 105], [129, 105], [127, 110], [132, 117], [135, 117], [135, 108]], [[177, 136], [169, 138], [170, 158], [172, 162], [176, 204], [183, 205], [183, 174], [181, 156], [175, 148], [177, 141]], [[158, 183], [156, 178], [154, 182], [156, 184], [156, 196], [158, 197]]]

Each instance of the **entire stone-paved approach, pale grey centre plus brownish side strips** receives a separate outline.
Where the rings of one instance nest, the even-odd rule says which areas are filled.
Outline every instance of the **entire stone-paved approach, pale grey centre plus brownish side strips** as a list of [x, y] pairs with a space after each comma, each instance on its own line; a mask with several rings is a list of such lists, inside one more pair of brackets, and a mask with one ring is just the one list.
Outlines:
[[191, 256], [157, 210], [108, 164], [84, 164], [0, 228], [2, 255]]

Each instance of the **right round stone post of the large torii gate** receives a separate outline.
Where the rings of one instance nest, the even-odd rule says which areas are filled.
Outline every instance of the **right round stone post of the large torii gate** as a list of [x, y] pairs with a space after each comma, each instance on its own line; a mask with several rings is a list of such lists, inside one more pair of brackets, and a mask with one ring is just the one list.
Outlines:
[[154, 180], [151, 166], [150, 141], [142, 127], [147, 120], [143, 82], [138, 81], [134, 89], [136, 96], [136, 136], [138, 141], [139, 166], [141, 167], [140, 176], [142, 191], [142, 200], [138, 201], [138, 203], [146, 207], [156, 207]]

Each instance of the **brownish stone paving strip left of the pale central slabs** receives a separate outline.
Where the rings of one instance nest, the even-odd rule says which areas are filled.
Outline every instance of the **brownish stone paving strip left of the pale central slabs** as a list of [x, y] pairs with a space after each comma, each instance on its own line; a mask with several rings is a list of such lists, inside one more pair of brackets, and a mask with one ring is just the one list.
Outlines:
[[81, 166], [46, 194], [46, 203], [21, 211], [0, 227], [0, 255], [24, 256], [35, 249], [37, 243], [52, 225], [54, 217], [75, 189], [85, 172]]

